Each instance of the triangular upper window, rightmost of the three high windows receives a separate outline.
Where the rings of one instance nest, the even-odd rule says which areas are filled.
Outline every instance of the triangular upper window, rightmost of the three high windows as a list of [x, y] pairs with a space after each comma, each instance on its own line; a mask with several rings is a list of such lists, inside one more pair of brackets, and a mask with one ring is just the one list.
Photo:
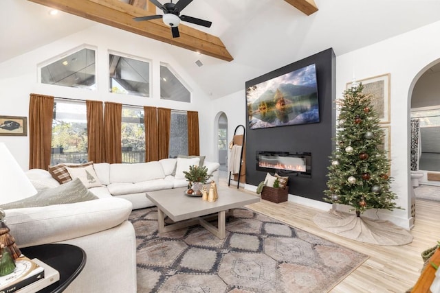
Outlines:
[[160, 66], [160, 98], [191, 102], [191, 93], [168, 67]]

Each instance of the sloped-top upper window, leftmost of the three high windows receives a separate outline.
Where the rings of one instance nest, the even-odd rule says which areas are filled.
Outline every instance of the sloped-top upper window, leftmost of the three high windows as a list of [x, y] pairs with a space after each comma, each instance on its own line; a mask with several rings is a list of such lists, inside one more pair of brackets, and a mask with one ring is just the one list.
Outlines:
[[96, 89], [95, 51], [80, 51], [41, 68], [41, 83], [81, 89]]

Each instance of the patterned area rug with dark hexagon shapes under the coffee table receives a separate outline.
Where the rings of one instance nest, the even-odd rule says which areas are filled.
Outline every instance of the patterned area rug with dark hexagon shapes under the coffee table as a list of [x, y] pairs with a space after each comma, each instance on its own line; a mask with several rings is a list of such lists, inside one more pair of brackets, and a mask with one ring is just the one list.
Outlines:
[[158, 235], [157, 209], [135, 210], [137, 292], [327, 292], [368, 257], [249, 209], [219, 239], [201, 226]]

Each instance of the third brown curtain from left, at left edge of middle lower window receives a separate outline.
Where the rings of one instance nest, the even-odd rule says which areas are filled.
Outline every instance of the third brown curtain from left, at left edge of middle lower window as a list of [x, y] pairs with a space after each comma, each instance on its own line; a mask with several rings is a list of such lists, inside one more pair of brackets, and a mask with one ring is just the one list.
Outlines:
[[122, 163], [121, 147], [122, 104], [105, 102], [104, 161]]

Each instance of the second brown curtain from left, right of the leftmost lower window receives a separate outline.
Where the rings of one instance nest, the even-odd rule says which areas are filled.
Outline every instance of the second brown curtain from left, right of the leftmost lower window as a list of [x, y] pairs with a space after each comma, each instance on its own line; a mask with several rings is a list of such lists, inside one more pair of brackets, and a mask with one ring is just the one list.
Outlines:
[[85, 101], [87, 106], [87, 152], [89, 161], [104, 162], [104, 117], [101, 101]]

